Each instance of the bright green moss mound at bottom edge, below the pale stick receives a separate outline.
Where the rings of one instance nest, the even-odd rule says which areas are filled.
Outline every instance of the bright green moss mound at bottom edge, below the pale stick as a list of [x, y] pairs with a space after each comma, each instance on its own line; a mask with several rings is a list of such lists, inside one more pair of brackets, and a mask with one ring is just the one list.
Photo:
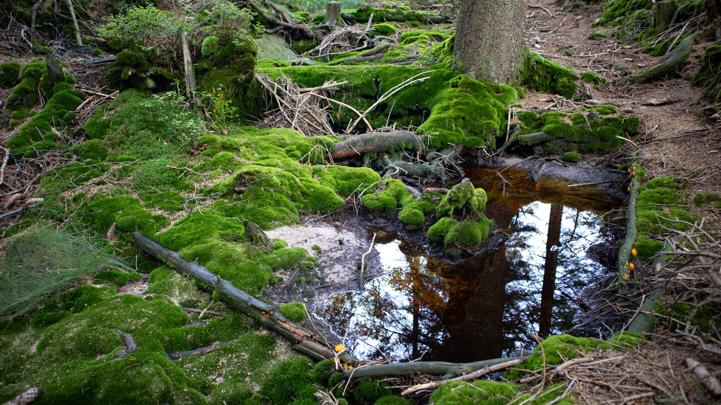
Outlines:
[[430, 395], [436, 405], [505, 405], [516, 396], [518, 386], [511, 383], [479, 380], [474, 383], [452, 381], [438, 387]]

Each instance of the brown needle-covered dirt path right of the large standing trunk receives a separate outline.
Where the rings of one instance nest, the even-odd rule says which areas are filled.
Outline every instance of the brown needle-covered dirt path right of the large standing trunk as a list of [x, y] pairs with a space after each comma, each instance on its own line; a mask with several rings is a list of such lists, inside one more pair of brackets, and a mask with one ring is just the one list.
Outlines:
[[[617, 88], [616, 83], [625, 76], [655, 65], [661, 57], [643, 53], [630, 38], [626, 42], [612, 37], [588, 40], [590, 34], [603, 30], [591, 27], [600, 15], [601, 6], [566, 12], [554, 0], [528, 1], [523, 22], [528, 48], [573, 68], [577, 74], [593, 71], [609, 80], [608, 86], [591, 90], [593, 99], [619, 109], [630, 108], [632, 114], [641, 118], [640, 135], [634, 142], [650, 177], [684, 177], [694, 192], [719, 194], [721, 124], [701, 117], [704, 105], [698, 100], [702, 89], [689, 83], [704, 49], [711, 43], [697, 44], [684, 70], [674, 78]], [[521, 103], [546, 107], [548, 98], [548, 94], [528, 94]], [[658, 107], [643, 104], [650, 99], [674, 102]]]

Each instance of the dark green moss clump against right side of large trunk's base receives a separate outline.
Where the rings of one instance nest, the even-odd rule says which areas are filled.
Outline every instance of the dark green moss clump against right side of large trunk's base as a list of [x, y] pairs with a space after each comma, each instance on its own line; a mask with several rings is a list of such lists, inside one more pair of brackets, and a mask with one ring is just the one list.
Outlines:
[[570, 99], [577, 89], [573, 71], [534, 51], [531, 51], [531, 58], [523, 68], [522, 76], [523, 85], [537, 92], [557, 93]]

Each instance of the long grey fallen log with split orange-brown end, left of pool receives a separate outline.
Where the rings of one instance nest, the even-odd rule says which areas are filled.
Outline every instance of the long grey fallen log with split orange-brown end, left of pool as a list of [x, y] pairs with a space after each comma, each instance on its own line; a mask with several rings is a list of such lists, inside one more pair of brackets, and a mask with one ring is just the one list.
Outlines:
[[[322, 342], [324, 342], [322, 337], [318, 337], [311, 331], [287, 319], [275, 306], [264, 303], [238, 290], [231, 282], [214, 275], [206, 270], [205, 267], [186, 262], [180, 258], [177, 252], [164, 248], [152, 239], [143, 236], [140, 231], [134, 231], [131, 233], [131, 236], [133, 236], [133, 241], [135, 241], [136, 246], [143, 252], [168, 264], [177, 272], [192, 277], [193, 280], [204, 288], [211, 291], [218, 291], [221, 299], [231, 306], [231, 308], [242, 313], [247, 313], [249, 316], [257, 319], [261, 326], [274, 331], [289, 342], [294, 343], [294, 350], [316, 360], [335, 358], [335, 352], [322, 344]], [[344, 362], [357, 361], [355, 357], [346, 353], [342, 353], [338, 355], [338, 357]]]

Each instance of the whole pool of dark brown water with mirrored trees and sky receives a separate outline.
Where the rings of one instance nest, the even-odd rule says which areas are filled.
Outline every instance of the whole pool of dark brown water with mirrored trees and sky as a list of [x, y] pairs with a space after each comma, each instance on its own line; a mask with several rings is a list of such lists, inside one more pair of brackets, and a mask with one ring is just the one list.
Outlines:
[[497, 172], [466, 172], [508, 236], [472, 259], [449, 264], [402, 235], [371, 230], [384, 275], [314, 308], [355, 356], [472, 362], [534, 347], [530, 331], [572, 328], [579, 295], [603, 272], [588, 248], [611, 237], [602, 213], [620, 205], [622, 194], [609, 192], [624, 186], [567, 187], [572, 179]]

